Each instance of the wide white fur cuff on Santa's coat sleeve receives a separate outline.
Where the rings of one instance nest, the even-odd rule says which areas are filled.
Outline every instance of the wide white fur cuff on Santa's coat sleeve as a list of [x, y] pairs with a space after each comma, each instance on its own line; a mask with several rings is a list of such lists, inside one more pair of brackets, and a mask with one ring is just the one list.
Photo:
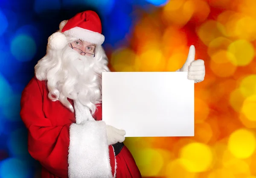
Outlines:
[[69, 178], [113, 178], [104, 121], [70, 126]]

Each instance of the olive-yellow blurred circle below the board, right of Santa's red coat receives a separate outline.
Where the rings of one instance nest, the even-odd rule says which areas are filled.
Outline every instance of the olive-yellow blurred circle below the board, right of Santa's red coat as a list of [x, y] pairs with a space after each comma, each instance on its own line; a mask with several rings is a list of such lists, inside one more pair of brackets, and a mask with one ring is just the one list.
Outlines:
[[137, 165], [143, 176], [156, 176], [163, 167], [163, 156], [155, 149], [139, 150], [137, 158]]

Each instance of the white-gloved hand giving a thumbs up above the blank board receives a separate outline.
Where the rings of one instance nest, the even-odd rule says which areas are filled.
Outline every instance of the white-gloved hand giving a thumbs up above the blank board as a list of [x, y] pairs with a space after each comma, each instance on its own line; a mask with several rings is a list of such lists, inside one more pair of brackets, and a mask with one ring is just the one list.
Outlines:
[[178, 71], [188, 72], [188, 79], [195, 80], [195, 83], [202, 82], [205, 76], [204, 60], [195, 60], [195, 46], [191, 45], [189, 48], [188, 58], [185, 64]]

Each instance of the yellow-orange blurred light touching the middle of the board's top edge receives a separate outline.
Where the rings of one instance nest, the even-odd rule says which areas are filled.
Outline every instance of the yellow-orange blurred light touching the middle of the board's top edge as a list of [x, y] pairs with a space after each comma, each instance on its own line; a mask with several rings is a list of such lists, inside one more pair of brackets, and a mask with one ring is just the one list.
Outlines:
[[164, 71], [166, 67], [166, 60], [161, 51], [151, 49], [140, 54], [136, 58], [136, 68], [141, 72], [155, 72]]

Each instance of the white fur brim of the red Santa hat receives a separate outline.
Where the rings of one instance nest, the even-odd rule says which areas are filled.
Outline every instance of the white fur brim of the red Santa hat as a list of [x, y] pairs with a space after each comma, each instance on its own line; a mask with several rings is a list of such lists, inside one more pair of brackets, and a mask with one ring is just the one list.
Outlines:
[[102, 45], [102, 43], [105, 40], [104, 35], [94, 31], [86, 30], [80, 27], [71, 28], [70, 30], [64, 31], [63, 34], [71, 37], [76, 37], [78, 39], [81, 39], [96, 45]]

